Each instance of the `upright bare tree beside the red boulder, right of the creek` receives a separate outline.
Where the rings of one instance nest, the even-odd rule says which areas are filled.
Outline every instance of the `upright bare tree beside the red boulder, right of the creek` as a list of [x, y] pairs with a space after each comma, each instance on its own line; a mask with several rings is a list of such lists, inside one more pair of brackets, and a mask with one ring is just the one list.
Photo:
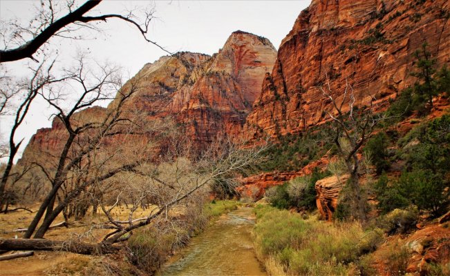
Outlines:
[[337, 146], [339, 157], [344, 160], [346, 172], [350, 175], [348, 185], [350, 186], [348, 199], [350, 201], [350, 212], [353, 217], [360, 221], [366, 220], [366, 199], [362, 195], [359, 186], [358, 169], [360, 160], [357, 153], [364, 143], [370, 139], [375, 126], [386, 119], [382, 113], [375, 114], [374, 101], [371, 95], [367, 106], [355, 106], [355, 91], [346, 79], [344, 92], [339, 94], [330, 88], [330, 80], [326, 78], [325, 88], [321, 92], [330, 99], [332, 110], [327, 111], [332, 119], [335, 130], [334, 142]]

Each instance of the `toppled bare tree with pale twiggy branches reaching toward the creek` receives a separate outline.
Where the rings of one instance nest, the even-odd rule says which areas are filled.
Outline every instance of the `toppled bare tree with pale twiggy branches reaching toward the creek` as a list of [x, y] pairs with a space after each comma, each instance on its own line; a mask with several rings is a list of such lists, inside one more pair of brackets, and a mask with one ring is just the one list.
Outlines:
[[[41, 239], [39, 230], [35, 239], [0, 239], [0, 250], [66, 250], [80, 254], [111, 253], [122, 248], [118, 246], [132, 235], [133, 230], [169, 219], [168, 213], [172, 208], [185, 206], [189, 199], [201, 193], [217, 179], [224, 175], [234, 175], [252, 166], [261, 158], [265, 146], [258, 148], [243, 148], [242, 145], [221, 141], [221, 146], [212, 147], [203, 152], [198, 159], [190, 160], [180, 156], [179, 152], [165, 155], [158, 161], [148, 159], [138, 160], [133, 164], [126, 164], [118, 168], [118, 173], [111, 171], [109, 176], [96, 177], [95, 181], [84, 182], [83, 186], [97, 188], [101, 195], [111, 193], [109, 198], [97, 197], [101, 210], [107, 218], [108, 228], [113, 230], [106, 234], [101, 242], [89, 244], [82, 241], [59, 242]], [[114, 175], [112, 175], [115, 173]], [[123, 185], [119, 179], [126, 179]], [[73, 190], [71, 195], [78, 193]], [[62, 210], [66, 199], [54, 210]], [[113, 199], [111, 201], [111, 199]], [[129, 219], [119, 221], [112, 215], [123, 201], [128, 201]], [[144, 217], [136, 217], [135, 210], [142, 206], [152, 206]], [[60, 208], [61, 207], [61, 208]], [[168, 223], [170, 219], [167, 220]], [[42, 226], [41, 226], [42, 227]]]

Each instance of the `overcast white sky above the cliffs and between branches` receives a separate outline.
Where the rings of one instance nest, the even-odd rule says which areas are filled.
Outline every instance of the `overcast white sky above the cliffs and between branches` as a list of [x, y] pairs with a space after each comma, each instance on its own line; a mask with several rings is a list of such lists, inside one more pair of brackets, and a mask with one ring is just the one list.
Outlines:
[[[84, 2], [84, 1], [79, 1]], [[34, 14], [37, 0], [0, 0], [0, 19], [17, 18], [28, 21]], [[297, 16], [309, 0], [297, 1], [122, 1], [106, 0], [91, 14], [120, 13], [136, 6], [154, 6], [157, 19], [151, 23], [150, 39], [157, 41], [170, 52], [190, 51], [214, 54], [223, 46], [229, 34], [243, 30], [267, 37], [278, 48], [281, 40], [291, 30]], [[118, 63], [131, 76], [145, 63], [156, 61], [165, 52], [142, 39], [138, 30], [123, 21], [102, 23], [104, 32], [84, 30], [89, 39], [53, 39], [62, 59], [75, 57], [77, 51], [90, 52], [98, 61]], [[10, 75], [26, 74], [26, 63], [6, 63]], [[32, 114], [19, 129], [17, 141], [28, 139], [38, 128], [50, 127], [48, 117], [52, 110], [46, 103], [36, 102]], [[10, 120], [0, 117], [0, 135], [6, 138]], [[22, 148], [23, 150], [23, 148]]]

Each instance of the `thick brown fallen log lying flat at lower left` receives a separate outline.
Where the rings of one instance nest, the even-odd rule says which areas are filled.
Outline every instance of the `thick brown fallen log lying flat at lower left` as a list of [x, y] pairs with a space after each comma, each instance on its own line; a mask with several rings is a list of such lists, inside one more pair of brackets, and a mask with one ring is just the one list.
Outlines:
[[0, 238], [0, 250], [67, 251], [83, 255], [102, 255], [115, 253], [120, 250], [120, 247], [106, 243], [86, 244], [71, 240]]

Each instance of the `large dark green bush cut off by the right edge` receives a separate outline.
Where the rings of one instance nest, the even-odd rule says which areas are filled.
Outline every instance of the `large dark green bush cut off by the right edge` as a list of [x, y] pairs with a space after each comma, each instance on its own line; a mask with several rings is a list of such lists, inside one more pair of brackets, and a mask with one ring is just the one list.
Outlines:
[[401, 142], [407, 167], [400, 187], [420, 210], [441, 215], [450, 204], [450, 115], [418, 126]]

